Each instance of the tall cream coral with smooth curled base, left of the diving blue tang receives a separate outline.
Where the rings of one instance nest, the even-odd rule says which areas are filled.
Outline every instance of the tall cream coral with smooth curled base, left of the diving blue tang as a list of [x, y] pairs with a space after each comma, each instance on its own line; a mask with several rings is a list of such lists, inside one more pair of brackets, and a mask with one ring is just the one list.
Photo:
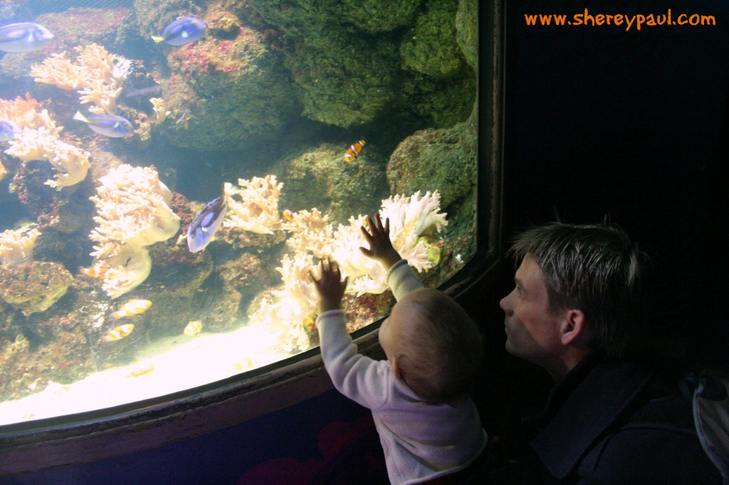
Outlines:
[[144, 246], [174, 236], [180, 219], [169, 208], [170, 190], [153, 168], [120, 165], [99, 181], [97, 195], [90, 197], [98, 224], [89, 234], [98, 243], [91, 256], [109, 270], [104, 290], [117, 298], [147, 279], [152, 261]]

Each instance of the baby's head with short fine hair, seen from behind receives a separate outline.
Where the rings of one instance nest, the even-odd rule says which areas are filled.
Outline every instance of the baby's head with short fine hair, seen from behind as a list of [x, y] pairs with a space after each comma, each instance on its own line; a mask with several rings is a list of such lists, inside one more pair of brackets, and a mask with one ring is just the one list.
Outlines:
[[380, 328], [380, 344], [395, 376], [430, 402], [467, 393], [482, 358], [476, 324], [450, 296], [432, 288], [395, 304]]

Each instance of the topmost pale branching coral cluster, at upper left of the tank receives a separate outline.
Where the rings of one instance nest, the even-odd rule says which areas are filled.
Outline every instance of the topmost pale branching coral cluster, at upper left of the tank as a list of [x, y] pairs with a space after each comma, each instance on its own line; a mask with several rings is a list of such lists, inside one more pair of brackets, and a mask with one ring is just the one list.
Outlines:
[[109, 52], [98, 44], [74, 47], [77, 63], [67, 52], [53, 54], [31, 68], [36, 82], [53, 84], [63, 90], [78, 90], [81, 103], [93, 103], [96, 113], [117, 114], [117, 98], [128, 76], [128, 59]]

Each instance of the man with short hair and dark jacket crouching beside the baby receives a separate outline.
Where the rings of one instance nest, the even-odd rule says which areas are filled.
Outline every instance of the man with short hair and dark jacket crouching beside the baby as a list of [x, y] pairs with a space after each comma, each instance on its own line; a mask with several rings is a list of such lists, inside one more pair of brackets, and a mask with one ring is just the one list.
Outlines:
[[519, 235], [515, 288], [500, 306], [506, 350], [554, 379], [529, 452], [498, 484], [720, 484], [690, 401], [640, 363], [646, 260], [615, 226], [549, 224]]

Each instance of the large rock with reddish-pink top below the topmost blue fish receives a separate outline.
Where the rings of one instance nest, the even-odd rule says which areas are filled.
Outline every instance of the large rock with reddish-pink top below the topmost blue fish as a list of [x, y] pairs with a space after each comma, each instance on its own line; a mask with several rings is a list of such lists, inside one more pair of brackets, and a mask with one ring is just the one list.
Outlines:
[[163, 82], [171, 111], [165, 137], [198, 150], [243, 149], [278, 138], [300, 107], [275, 46], [246, 25], [217, 32], [222, 38], [206, 33], [165, 50], [172, 71]]

